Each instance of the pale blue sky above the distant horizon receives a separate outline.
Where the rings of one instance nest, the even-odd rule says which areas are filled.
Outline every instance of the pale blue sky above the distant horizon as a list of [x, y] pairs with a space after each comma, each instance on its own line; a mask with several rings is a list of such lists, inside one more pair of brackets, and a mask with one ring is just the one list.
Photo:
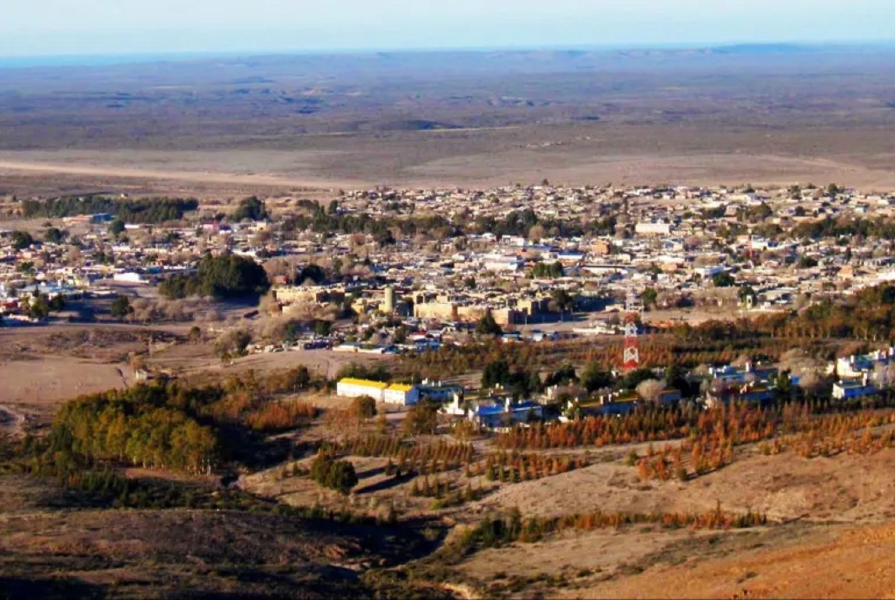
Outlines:
[[5, 0], [0, 56], [895, 37], [895, 0]]

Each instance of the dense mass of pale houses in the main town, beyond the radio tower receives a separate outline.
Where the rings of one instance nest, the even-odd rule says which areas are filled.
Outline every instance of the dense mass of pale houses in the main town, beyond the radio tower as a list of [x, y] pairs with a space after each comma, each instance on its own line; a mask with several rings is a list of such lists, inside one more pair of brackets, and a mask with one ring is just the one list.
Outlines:
[[[566, 292], [575, 298], [575, 309], [593, 313], [591, 324], [575, 333], [605, 334], [618, 330], [614, 299], [646, 287], [659, 292], [652, 302], [656, 308], [721, 305], [738, 316], [895, 280], [889, 241], [811, 237], [799, 230], [803, 224], [861, 219], [871, 212], [877, 221], [895, 219], [895, 197], [812, 186], [545, 182], [342, 195], [334, 209], [341, 217], [394, 222], [424, 213], [465, 226], [462, 235], [448, 227], [425, 234], [395, 228], [394, 243], [386, 245], [371, 233], [287, 234], [288, 210], [277, 218], [234, 223], [198, 211], [181, 222], [125, 224], [124, 232], [110, 231], [109, 215], [83, 215], [57, 223], [71, 230], [63, 240], [41, 240], [36, 232], [36, 242], [21, 247], [13, 232], [0, 232], [0, 310], [16, 313], [16, 297], [34, 289], [91, 295], [112, 284], [154, 285], [192, 270], [209, 250], [226, 250], [259, 261], [328, 261], [333, 285], [305, 289], [306, 282], [272, 275], [285, 314], [308, 305], [347, 303], [358, 315], [426, 323], [470, 324], [490, 315], [501, 326], [540, 325], [561, 321], [571, 307], [557, 294]], [[524, 217], [502, 225], [510, 215]], [[335, 259], [339, 264], [331, 266]], [[539, 271], [539, 265], [550, 268]], [[725, 293], [710, 283], [725, 273], [743, 290], [748, 284], [747, 291]], [[337, 346], [339, 340], [330, 342]]]

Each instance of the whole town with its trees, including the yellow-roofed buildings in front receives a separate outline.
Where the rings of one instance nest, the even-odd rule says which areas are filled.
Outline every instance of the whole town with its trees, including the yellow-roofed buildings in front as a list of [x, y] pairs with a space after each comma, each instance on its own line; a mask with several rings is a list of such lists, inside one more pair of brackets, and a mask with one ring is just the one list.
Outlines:
[[[0, 232], [0, 323], [199, 324], [225, 364], [281, 351], [417, 357], [483, 340], [609, 349], [603, 364], [579, 365], [589, 378], [541, 365], [532, 385], [506, 365], [474, 389], [338, 382], [338, 395], [439, 401], [443, 414], [491, 429], [644, 403], [766, 403], [805, 390], [854, 399], [891, 385], [887, 338], [866, 322], [840, 337], [874, 347], [825, 360], [744, 351], [676, 367], [641, 362], [636, 348], [638, 337], [649, 345], [725, 321], [758, 318], [774, 334], [793, 326], [790, 313], [895, 280], [891, 194], [545, 181], [333, 195], [252, 197], [229, 214], [194, 199], [7, 199], [0, 209], [30, 227]], [[232, 289], [191, 283], [214, 257], [242, 261], [228, 263]], [[251, 293], [260, 304], [245, 303]], [[620, 359], [623, 345], [633, 362]]]

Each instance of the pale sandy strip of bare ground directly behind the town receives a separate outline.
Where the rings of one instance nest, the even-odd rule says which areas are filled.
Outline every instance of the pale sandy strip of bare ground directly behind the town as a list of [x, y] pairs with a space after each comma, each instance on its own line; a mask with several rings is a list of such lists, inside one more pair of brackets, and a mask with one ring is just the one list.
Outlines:
[[[427, 135], [421, 133], [421, 135]], [[427, 143], [419, 139], [415, 143]], [[430, 140], [428, 143], [432, 143]], [[771, 145], [772, 146], [772, 145]], [[166, 188], [178, 185], [220, 190], [358, 189], [380, 183], [408, 187], [505, 185], [548, 178], [585, 184], [720, 183], [789, 184], [839, 182], [876, 190], [895, 189], [895, 169], [882, 156], [810, 156], [760, 152], [644, 151], [622, 154], [601, 139], [581, 138], [570, 147], [495, 148], [432, 160], [407, 159], [399, 171], [371, 177], [363, 152], [215, 150], [215, 151], [5, 151], [0, 152], [0, 183], [17, 178], [68, 178], [81, 186]], [[404, 161], [399, 161], [404, 163]]]

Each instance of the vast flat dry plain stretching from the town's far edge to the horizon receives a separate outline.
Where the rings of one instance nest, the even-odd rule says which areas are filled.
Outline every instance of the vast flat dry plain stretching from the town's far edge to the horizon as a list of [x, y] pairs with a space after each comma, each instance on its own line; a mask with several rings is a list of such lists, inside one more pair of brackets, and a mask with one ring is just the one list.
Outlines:
[[891, 52], [272, 56], [6, 70], [0, 192], [219, 198], [542, 178], [890, 188]]

